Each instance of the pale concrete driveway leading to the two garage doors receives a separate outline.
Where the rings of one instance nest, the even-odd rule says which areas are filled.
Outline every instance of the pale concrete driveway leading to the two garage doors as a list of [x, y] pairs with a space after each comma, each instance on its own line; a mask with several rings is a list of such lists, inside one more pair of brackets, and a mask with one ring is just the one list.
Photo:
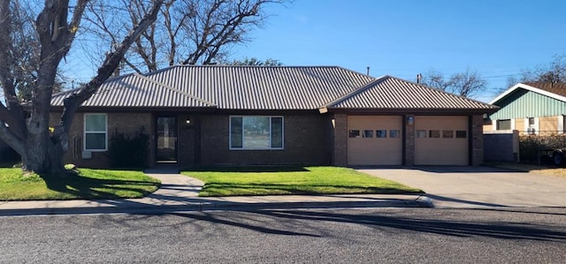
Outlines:
[[434, 207], [566, 207], [566, 178], [488, 167], [355, 168], [419, 188]]

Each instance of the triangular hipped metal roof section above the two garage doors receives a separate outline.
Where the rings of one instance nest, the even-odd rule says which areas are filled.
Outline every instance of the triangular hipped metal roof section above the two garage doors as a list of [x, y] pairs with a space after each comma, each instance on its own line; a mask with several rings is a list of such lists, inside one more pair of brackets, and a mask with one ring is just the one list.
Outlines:
[[328, 103], [334, 109], [495, 109], [493, 105], [383, 76], [371, 84]]

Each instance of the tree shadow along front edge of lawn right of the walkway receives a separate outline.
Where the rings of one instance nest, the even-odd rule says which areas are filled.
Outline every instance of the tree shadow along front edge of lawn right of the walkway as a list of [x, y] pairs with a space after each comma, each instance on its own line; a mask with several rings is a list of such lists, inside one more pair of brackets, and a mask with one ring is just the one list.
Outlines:
[[[214, 192], [212, 189], [240, 189], [249, 190], [249, 194], [239, 194], [239, 195], [257, 195], [254, 194], [255, 190], [268, 190], [269, 192], [281, 192], [281, 194], [348, 194], [348, 193], [368, 193], [368, 194], [417, 194], [424, 193], [421, 190], [418, 191], [406, 191], [394, 187], [366, 187], [366, 186], [356, 186], [356, 185], [281, 185], [281, 184], [219, 184], [210, 183], [203, 186], [205, 192]], [[317, 192], [317, 190], [324, 191], [325, 189], [332, 189], [333, 191], [328, 192]], [[258, 191], [259, 192], [259, 191]], [[223, 193], [218, 193], [222, 196]]]

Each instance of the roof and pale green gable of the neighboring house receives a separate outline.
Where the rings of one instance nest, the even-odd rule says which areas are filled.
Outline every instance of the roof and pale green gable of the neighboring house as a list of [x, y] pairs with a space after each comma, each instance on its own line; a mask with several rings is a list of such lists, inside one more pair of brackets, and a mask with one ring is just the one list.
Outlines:
[[490, 116], [492, 120], [566, 115], [566, 85], [519, 83], [490, 103], [501, 108]]

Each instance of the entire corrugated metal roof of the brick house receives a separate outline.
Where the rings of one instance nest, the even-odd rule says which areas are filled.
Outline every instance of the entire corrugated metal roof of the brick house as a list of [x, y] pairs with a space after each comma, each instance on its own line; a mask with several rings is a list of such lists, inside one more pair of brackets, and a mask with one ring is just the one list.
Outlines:
[[[51, 104], [78, 90], [54, 94]], [[103, 83], [88, 107], [216, 109], [493, 109], [385, 76], [336, 66], [178, 65]]]

